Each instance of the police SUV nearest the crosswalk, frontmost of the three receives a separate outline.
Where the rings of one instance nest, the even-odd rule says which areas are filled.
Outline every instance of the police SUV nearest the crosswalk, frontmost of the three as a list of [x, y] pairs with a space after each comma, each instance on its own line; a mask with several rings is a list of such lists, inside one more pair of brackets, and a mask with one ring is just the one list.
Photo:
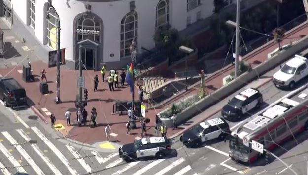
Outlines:
[[124, 162], [148, 157], [164, 158], [171, 153], [172, 140], [164, 137], [144, 137], [134, 143], [119, 148], [119, 156]]

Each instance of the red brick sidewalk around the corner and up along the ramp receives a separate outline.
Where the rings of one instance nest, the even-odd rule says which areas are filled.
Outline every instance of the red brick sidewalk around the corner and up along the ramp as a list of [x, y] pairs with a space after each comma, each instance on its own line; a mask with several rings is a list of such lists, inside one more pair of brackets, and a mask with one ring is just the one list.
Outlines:
[[[286, 37], [289, 37], [291, 39], [285, 39], [282, 44], [289, 43], [290, 41], [295, 41], [300, 38], [301, 35], [307, 35], [308, 34], [308, 25], [306, 24], [304, 27], [294, 31], [291, 35], [287, 35]], [[4, 31], [6, 32], [6, 31]], [[12, 43], [14, 44], [14, 43]], [[248, 61], [252, 64], [252, 66], [256, 66], [263, 61], [267, 59], [267, 54], [269, 52], [272, 52], [274, 49], [276, 49], [278, 45], [276, 43], [270, 44], [267, 47], [263, 48], [262, 50], [256, 52], [255, 54], [252, 54], [250, 57], [248, 57], [245, 61]], [[20, 49], [20, 48], [19, 48]], [[17, 48], [17, 50], [19, 50]], [[23, 56], [23, 53], [21, 53]], [[27, 62], [23, 62], [27, 63]], [[21, 74], [22, 66], [19, 65], [15, 69], [13, 67], [9, 68], [3, 68], [0, 69], [1, 75], [6, 75], [14, 77], [18, 80], [18, 82], [26, 89], [27, 96], [33, 101], [33, 105], [35, 108], [37, 108], [42, 114], [43, 119], [46, 120], [46, 122], [50, 122], [49, 115], [50, 113], [54, 113], [57, 117], [57, 124], [59, 126], [58, 130], [61, 131], [65, 136], [70, 137], [71, 139], [85, 142], [88, 144], [94, 144], [96, 142], [101, 142], [106, 140], [105, 134], [104, 134], [104, 128], [106, 124], [110, 124], [111, 130], [112, 130], [112, 137], [111, 140], [114, 142], [120, 142], [128, 143], [135, 140], [136, 137], [140, 137], [140, 123], [137, 123], [137, 129], [132, 130], [131, 135], [126, 135], [126, 127], [125, 123], [128, 121], [127, 115], [119, 116], [117, 114], [112, 115], [112, 105], [115, 103], [116, 100], [131, 100], [131, 93], [129, 90], [129, 87], [125, 86], [124, 88], [116, 88], [115, 92], [110, 92], [108, 88], [107, 83], [102, 83], [100, 72], [94, 72], [92, 70], [89, 71], [83, 71], [83, 75], [85, 77], [85, 85], [86, 88], [89, 91], [89, 102], [86, 106], [86, 110], [88, 113], [90, 113], [92, 107], [96, 107], [98, 109], [98, 118], [97, 123], [98, 126], [93, 128], [92, 124], [89, 126], [82, 126], [78, 127], [76, 125], [73, 125], [72, 127], [67, 127], [65, 122], [65, 116], [64, 113], [67, 109], [72, 111], [72, 118], [71, 122], [72, 124], [76, 124], [76, 118], [75, 118], [75, 104], [74, 101], [76, 99], [76, 95], [78, 94], [78, 89], [76, 88], [77, 85], [77, 77], [78, 77], [78, 71], [76, 70], [67, 70], [62, 68], [61, 69], [61, 100], [63, 101], [62, 104], [56, 105], [54, 103], [56, 98], [56, 67], [54, 68], [48, 68], [48, 65], [43, 63], [42, 61], [36, 61], [32, 62], [32, 69], [33, 74], [36, 75], [37, 81], [36, 82], [28, 82], [22, 80], [22, 74]], [[47, 70], [47, 80], [49, 81], [49, 90], [50, 94], [48, 95], [41, 95], [39, 93], [39, 72], [42, 69]], [[206, 85], [208, 91], [211, 93], [215, 91], [216, 89], [220, 88], [222, 86], [222, 78], [228, 74], [230, 74], [231, 71], [233, 71], [234, 66], [228, 65], [227, 68], [223, 68], [220, 72], [214, 74], [212, 77], [208, 78], [206, 80]], [[99, 91], [93, 92], [93, 77], [95, 74], [99, 75]], [[268, 79], [266, 79], [268, 81]], [[257, 85], [262, 85], [265, 79], [256, 81]], [[257, 86], [256, 85], [256, 86]], [[138, 92], [137, 88], [135, 88], [135, 99], [138, 99]], [[181, 96], [177, 97], [176, 99], [185, 98], [185, 96], [189, 96], [190, 94], [196, 93], [196, 90], [191, 90], [186, 93], [183, 93]], [[174, 101], [174, 100], [173, 100]], [[172, 102], [173, 102], [172, 101]], [[172, 103], [170, 102], [169, 105]], [[164, 107], [167, 107], [167, 105], [164, 105]], [[153, 109], [149, 110], [146, 113], [146, 117], [150, 118], [150, 123], [147, 124], [147, 129], [149, 135], [153, 135], [154, 131], [154, 123], [155, 123], [155, 114], [162, 111], [163, 108], [159, 109]], [[208, 114], [211, 114], [210, 111], [213, 110], [219, 111], [219, 108], [210, 108], [207, 109]], [[204, 118], [206, 116], [203, 116]], [[90, 118], [90, 116], [88, 117]], [[194, 120], [194, 119], [193, 119]], [[189, 128], [192, 126], [190, 125], [183, 125], [179, 126], [178, 129], [168, 130], [168, 135], [172, 136], [178, 132], [182, 132], [183, 130]], [[46, 125], [46, 127], [49, 127], [49, 124]]]

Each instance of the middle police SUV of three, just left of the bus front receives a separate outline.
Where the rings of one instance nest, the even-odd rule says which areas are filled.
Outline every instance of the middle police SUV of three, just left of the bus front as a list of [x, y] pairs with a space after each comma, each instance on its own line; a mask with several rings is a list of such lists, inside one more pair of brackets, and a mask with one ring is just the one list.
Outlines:
[[197, 147], [205, 141], [224, 139], [230, 134], [229, 125], [223, 118], [213, 118], [199, 123], [185, 131], [180, 141], [187, 147]]

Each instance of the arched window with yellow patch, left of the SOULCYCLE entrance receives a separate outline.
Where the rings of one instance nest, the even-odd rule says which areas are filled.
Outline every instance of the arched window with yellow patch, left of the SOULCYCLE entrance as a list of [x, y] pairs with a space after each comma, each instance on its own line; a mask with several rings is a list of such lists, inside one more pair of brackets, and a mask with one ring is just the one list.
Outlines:
[[57, 49], [57, 22], [58, 17], [56, 15], [56, 10], [52, 7], [48, 8], [48, 21], [47, 21], [47, 38], [48, 46], [52, 49]]

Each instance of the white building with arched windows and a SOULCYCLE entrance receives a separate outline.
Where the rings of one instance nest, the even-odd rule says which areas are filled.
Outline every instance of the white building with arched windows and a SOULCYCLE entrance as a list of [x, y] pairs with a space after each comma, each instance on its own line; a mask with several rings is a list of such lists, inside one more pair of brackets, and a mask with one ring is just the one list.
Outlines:
[[136, 40], [138, 52], [141, 47], [151, 49], [155, 45], [152, 36], [158, 27], [170, 24], [183, 30], [198, 19], [209, 17], [214, 8], [213, 0], [1, 0], [1, 3], [4, 7], [1, 14], [8, 17], [12, 29], [27, 43], [39, 45], [34, 50], [44, 61], [57, 49], [56, 11], [66, 65], [76, 68], [77, 43], [86, 40], [86, 47], [81, 49], [82, 61], [88, 69], [95, 70], [102, 64], [122, 68], [130, 62], [132, 39]]

